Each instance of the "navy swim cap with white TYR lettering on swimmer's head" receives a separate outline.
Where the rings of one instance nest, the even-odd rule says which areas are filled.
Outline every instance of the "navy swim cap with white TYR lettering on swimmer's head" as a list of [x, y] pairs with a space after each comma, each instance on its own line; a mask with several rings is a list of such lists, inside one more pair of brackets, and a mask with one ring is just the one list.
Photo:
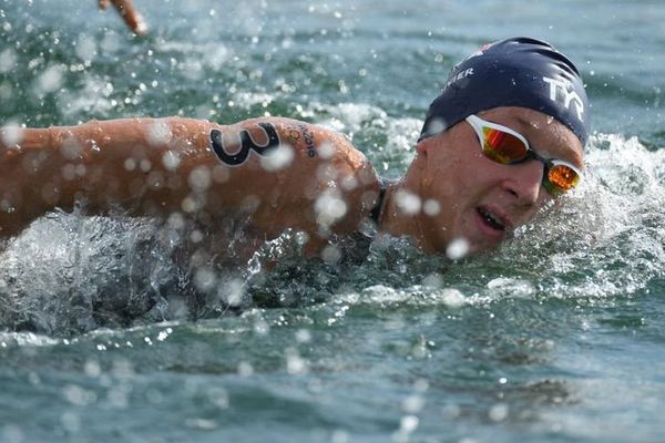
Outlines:
[[499, 106], [551, 115], [586, 145], [589, 102], [580, 72], [549, 43], [529, 38], [487, 44], [456, 65], [429, 107], [420, 140]]

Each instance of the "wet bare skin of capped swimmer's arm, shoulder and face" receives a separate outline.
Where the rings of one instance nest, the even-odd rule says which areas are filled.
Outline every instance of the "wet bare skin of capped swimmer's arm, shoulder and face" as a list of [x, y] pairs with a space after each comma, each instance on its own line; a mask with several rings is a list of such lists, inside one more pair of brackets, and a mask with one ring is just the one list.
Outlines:
[[[479, 116], [521, 133], [544, 157], [583, 167], [580, 141], [548, 115], [499, 107]], [[276, 151], [262, 147], [272, 143], [266, 124], [275, 131]], [[243, 132], [248, 145], [243, 145]], [[55, 207], [71, 209], [84, 200], [92, 214], [113, 208], [164, 219], [177, 214], [211, 231], [241, 212], [250, 219], [247, 233], [256, 247], [295, 228], [309, 238], [305, 254], [317, 255], [332, 234], [358, 231], [378, 200], [375, 169], [346, 137], [289, 119], [227, 126], [177, 117], [126, 119], [28, 128], [18, 137], [3, 134], [4, 237]], [[275, 163], [282, 155], [275, 153], [288, 154], [286, 161]], [[536, 161], [502, 165], [487, 158], [472, 127], [461, 122], [417, 145], [407, 174], [386, 194], [379, 230], [408, 236], [428, 253], [446, 251], [460, 238], [470, 253], [492, 249], [552, 198], [541, 185], [542, 175]], [[439, 210], [405, 210], [403, 192], [421, 207]]]

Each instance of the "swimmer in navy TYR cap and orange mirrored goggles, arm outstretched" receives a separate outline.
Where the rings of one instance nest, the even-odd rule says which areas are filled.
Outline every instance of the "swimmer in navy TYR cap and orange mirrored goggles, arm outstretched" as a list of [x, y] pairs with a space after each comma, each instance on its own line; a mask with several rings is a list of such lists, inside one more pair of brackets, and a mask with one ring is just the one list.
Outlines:
[[411, 164], [393, 182], [344, 135], [290, 119], [124, 119], [1, 135], [3, 237], [83, 202], [90, 214], [121, 208], [190, 219], [208, 233], [243, 214], [243, 236], [256, 248], [290, 228], [304, 233], [307, 256], [374, 226], [426, 253], [454, 247], [460, 257], [495, 248], [575, 188], [589, 104], [566, 56], [514, 38], [452, 69]]

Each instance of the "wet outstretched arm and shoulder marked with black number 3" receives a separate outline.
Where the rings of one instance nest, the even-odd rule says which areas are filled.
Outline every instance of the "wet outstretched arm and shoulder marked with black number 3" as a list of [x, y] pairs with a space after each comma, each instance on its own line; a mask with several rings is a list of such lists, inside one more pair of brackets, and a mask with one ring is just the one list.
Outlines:
[[[223, 126], [124, 119], [0, 134], [0, 236], [55, 207], [89, 213], [252, 215], [265, 237], [293, 227], [325, 238], [358, 227], [378, 190], [374, 168], [338, 134], [288, 119]], [[10, 134], [11, 133], [11, 134]]]

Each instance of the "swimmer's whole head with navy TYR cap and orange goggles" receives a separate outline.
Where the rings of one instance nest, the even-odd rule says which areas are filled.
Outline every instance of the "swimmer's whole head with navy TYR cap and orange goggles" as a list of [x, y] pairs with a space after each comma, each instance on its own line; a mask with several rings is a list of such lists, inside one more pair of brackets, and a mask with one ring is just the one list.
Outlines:
[[577, 70], [546, 43], [504, 40], [458, 64], [430, 106], [405, 182], [440, 208], [415, 217], [419, 243], [491, 249], [574, 186], [587, 107]]

